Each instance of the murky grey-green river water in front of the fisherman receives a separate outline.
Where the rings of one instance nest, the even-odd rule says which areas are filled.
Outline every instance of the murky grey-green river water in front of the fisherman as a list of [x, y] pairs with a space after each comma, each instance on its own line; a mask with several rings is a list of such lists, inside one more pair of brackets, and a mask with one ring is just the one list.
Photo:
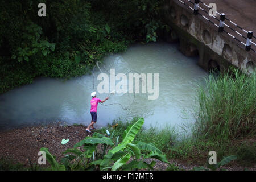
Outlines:
[[[95, 69], [96, 91], [101, 82], [97, 76], [102, 72], [110, 72], [112, 68], [115, 74], [131, 70], [146, 75], [152, 73], [153, 88], [156, 85], [154, 74], [159, 73], [159, 95], [155, 100], [148, 100], [148, 95], [152, 95], [148, 92], [137, 93], [135, 97], [133, 93], [98, 93], [97, 97], [101, 100], [110, 97], [104, 104], [119, 103], [122, 106], [99, 104], [96, 127], [106, 126], [113, 119], [129, 121], [136, 116], [144, 117], [146, 127], [163, 127], [166, 124], [179, 127], [192, 122], [191, 110], [195, 104], [196, 85], [204, 84], [204, 78], [208, 76], [196, 64], [197, 59], [185, 57], [178, 51], [176, 44], [167, 43], [135, 45], [125, 53], [107, 56], [104, 64], [100, 64], [101, 70], [98, 67]], [[2, 129], [11, 129], [58, 121], [68, 125], [88, 125], [91, 119], [91, 92], [93, 75], [68, 81], [38, 78], [30, 85], [0, 96], [0, 126]]]

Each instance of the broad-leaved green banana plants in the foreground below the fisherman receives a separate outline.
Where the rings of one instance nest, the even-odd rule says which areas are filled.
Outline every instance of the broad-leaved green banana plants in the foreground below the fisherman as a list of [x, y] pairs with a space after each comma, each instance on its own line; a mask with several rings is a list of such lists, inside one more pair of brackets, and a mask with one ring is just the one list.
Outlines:
[[[133, 170], [133, 169], [153, 169], [155, 161], [150, 164], [144, 162], [147, 158], [155, 158], [162, 162], [169, 163], [166, 155], [163, 154], [152, 143], [135, 142], [135, 135], [141, 129], [144, 119], [131, 123], [122, 134], [122, 142], [118, 143], [113, 131], [111, 137], [105, 137], [100, 133], [93, 133], [93, 136], [86, 137], [76, 143], [74, 148], [64, 152], [65, 157], [59, 164], [47, 148], [40, 151], [46, 152], [46, 159], [51, 164], [52, 170]], [[115, 144], [114, 144], [115, 142]], [[79, 150], [77, 147], [83, 147]], [[130, 162], [129, 162], [130, 160]], [[127, 163], [129, 162], [129, 163]]]

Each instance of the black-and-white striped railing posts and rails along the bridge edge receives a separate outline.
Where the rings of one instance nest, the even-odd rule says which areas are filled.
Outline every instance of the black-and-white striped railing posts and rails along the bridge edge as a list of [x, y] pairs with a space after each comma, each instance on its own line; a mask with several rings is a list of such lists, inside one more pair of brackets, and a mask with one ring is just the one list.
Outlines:
[[[187, 6], [189, 9], [191, 9], [195, 15], [202, 16], [208, 22], [210, 22], [210, 23], [214, 24], [214, 26], [218, 27], [219, 32], [225, 32], [227, 35], [229, 35], [233, 39], [237, 40], [237, 42], [243, 44], [243, 46], [245, 46], [246, 51], [253, 51], [256, 53], [256, 51], [253, 48], [251, 48], [251, 44], [254, 44], [254, 46], [256, 46], [256, 43], [253, 42], [253, 38], [255, 39], [255, 36], [253, 36], [252, 31], [246, 31], [241, 26], [238, 26], [236, 23], [232, 22], [232, 20], [226, 18], [224, 13], [218, 13], [217, 11], [215, 11], [216, 14], [218, 14], [220, 16], [220, 18], [218, 18], [217, 16], [210, 15], [209, 11], [204, 10], [203, 7], [201, 7], [199, 5], [199, 3], [202, 3], [209, 10], [212, 10], [212, 9], [200, 0], [193, 0], [193, 1], [192, 0], [179, 0], [179, 1], [181, 3], [183, 3], [185, 6]], [[188, 1], [189, 3], [191, 3], [193, 5], [193, 7], [189, 6], [184, 1]], [[203, 15], [203, 13], [206, 13], [209, 16], [209, 18], [207, 18], [207, 16]], [[225, 23], [225, 20], [243, 32], [242, 33], [238, 32], [237, 30], [235, 30], [235, 28], [232, 28], [229, 24]], [[228, 27], [228, 29], [224, 28], [224, 26]], [[247, 34], [247, 36], [243, 35], [244, 32]], [[235, 33], [235, 36], [233, 35], [233, 33]], [[236, 35], [239, 35], [239, 36], [237, 37]], [[244, 40], [246, 41], [245, 43], [243, 42]]]

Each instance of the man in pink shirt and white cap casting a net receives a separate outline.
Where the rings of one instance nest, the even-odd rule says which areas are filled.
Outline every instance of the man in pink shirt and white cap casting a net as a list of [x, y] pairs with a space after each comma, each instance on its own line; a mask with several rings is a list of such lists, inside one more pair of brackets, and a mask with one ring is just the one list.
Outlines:
[[92, 130], [95, 129], [93, 125], [97, 122], [98, 102], [103, 103], [109, 99], [109, 97], [106, 97], [104, 101], [101, 101], [99, 98], [96, 98], [96, 92], [93, 92], [90, 95], [92, 96], [92, 100], [90, 100], [90, 115], [92, 116], [92, 121], [90, 122], [90, 125], [86, 128], [86, 131], [88, 131], [89, 133], [91, 132], [90, 128]]

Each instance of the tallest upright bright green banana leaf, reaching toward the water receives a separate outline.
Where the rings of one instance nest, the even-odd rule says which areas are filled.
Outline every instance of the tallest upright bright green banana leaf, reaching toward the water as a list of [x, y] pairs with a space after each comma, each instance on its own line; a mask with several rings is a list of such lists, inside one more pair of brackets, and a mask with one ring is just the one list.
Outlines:
[[144, 123], [144, 118], [140, 118], [137, 122], [128, 126], [127, 129], [123, 132], [122, 144], [128, 144], [133, 142], [135, 135], [141, 129], [143, 123]]

